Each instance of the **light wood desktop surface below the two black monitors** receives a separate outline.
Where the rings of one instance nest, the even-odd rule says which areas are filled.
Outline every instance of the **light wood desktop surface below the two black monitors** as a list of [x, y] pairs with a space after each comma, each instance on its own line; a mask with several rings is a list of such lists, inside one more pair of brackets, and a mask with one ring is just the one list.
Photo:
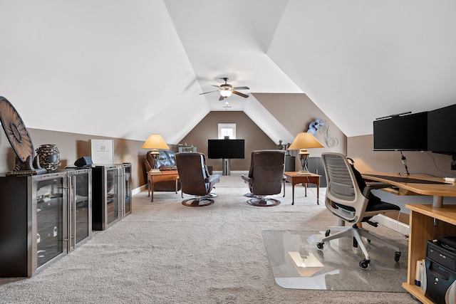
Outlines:
[[442, 177], [429, 177], [420, 174], [398, 175], [388, 172], [363, 172], [364, 179], [373, 182], [386, 182], [395, 187], [407, 189], [423, 195], [456, 196], [456, 184], [445, 182]]

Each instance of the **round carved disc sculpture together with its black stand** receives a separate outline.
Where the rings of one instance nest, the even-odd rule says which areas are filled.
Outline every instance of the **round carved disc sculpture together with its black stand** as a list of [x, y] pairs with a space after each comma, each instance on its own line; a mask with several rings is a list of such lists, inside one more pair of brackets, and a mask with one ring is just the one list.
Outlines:
[[0, 122], [6, 137], [16, 152], [16, 164], [13, 171], [6, 175], [34, 175], [46, 172], [41, 168], [36, 157], [33, 159], [33, 142], [28, 134], [26, 126], [13, 105], [0, 96]]

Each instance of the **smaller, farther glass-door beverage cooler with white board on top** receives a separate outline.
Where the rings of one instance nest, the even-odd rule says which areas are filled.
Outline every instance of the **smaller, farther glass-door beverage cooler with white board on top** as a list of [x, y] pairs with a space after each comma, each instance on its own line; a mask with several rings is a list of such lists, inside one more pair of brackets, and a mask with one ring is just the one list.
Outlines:
[[92, 228], [105, 230], [131, 213], [131, 164], [92, 168]]

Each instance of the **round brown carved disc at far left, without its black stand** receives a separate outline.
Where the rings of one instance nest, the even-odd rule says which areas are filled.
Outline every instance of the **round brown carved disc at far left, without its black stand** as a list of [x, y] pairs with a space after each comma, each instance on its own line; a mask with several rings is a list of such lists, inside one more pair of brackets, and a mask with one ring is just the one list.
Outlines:
[[33, 158], [33, 143], [24, 122], [6, 98], [0, 96], [0, 122], [9, 143], [21, 162]]

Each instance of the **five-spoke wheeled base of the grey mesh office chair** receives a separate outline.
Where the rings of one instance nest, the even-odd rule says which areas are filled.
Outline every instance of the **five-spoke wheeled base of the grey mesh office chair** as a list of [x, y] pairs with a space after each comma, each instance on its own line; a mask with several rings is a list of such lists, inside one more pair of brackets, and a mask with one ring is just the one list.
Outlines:
[[[334, 229], [334, 230], [338, 230], [338, 232], [331, 236], [326, 236], [325, 238], [321, 239], [320, 242], [325, 243], [326, 241], [331, 241], [333, 239], [340, 239], [340, 238], [343, 238], [344, 236], [351, 236], [354, 239], [356, 239], [356, 242], [358, 243], [358, 247], [361, 248], [361, 251], [363, 251], [364, 257], [366, 258], [367, 261], [370, 261], [371, 258], [369, 257], [369, 253], [366, 248], [366, 244], [363, 242], [363, 239], [361, 239], [361, 237], [368, 239], [368, 241], [375, 241], [377, 243], [380, 243], [383, 246], [392, 248], [393, 250], [396, 251], [396, 254], [400, 253], [400, 249], [398, 246], [394, 246], [393, 244], [388, 243], [387, 241], [383, 241], [383, 239], [379, 239], [377, 236], [370, 234], [369, 231], [367, 231], [366, 229], [356, 228], [355, 226], [356, 225], [353, 225], [351, 227], [348, 227], [348, 226], [347, 227], [345, 227], [345, 226], [328, 227], [328, 231], [330, 231], [331, 229]], [[398, 260], [398, 258], [396, 260]]]

